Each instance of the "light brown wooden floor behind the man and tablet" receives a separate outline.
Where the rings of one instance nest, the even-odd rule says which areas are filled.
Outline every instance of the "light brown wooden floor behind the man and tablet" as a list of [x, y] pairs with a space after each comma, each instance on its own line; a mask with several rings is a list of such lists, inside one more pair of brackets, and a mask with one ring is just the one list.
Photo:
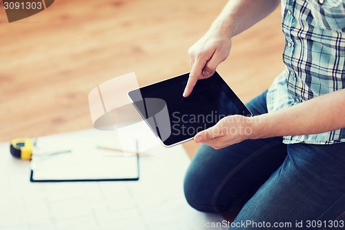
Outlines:
[[[0, 141], [90, 128], [88, 93], [135, 71], [141, 86], [190, 70], [187, 50], [226, 3], [57, 0], [8, 23], [0, 8]], [[218, 71], [247, 102], [284, 68], [280, 11], [233, 39]], [[184, 144], [190, 157], [197, 144]]]

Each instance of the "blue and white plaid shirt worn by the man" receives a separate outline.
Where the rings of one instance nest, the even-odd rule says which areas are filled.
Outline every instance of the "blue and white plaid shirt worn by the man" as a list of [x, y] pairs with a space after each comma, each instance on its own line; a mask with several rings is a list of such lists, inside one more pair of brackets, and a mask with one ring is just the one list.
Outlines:
[[[282, 0], [282, 30], [286, 70], [268, 89], [269, 112], [345, 88], [345, 1]], [[284, 137], [286, 144], [301, 142], [345, 142], [345, 128]]]

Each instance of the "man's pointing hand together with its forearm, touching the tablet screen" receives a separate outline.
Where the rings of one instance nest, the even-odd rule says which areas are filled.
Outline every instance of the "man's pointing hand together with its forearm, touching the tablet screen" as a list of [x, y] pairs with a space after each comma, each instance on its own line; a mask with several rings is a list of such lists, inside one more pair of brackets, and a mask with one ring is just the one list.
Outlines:
[[206, 34], [188, 50], [190, 76], [184, 97], [192, 93], [198, 79], [213, 75], [231, 49], [231, 38], [273, 12], [280, 0], [229, 0]]

